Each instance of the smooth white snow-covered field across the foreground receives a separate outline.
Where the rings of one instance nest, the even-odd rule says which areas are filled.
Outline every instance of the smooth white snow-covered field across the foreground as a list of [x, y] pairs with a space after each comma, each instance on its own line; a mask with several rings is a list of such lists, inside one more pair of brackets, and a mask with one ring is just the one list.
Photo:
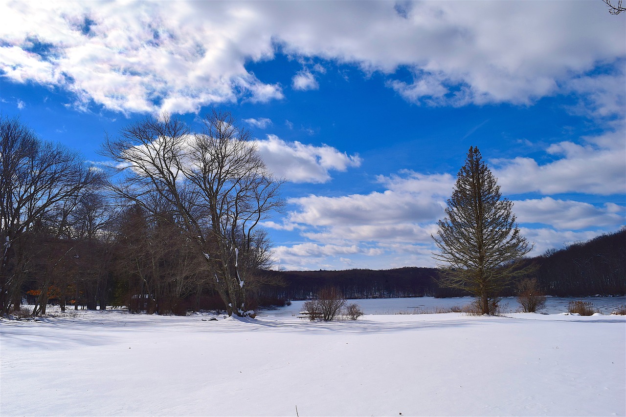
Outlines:
[[1, 416], [626, 415], [625, 316], [55, 315], [0, 320]]

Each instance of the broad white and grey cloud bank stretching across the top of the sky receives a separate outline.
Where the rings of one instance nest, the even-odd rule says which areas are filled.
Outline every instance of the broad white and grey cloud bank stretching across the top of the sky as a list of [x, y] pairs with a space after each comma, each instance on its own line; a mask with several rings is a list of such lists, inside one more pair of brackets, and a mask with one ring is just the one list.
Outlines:
[[[126, 113], [283, 98], [279, 84], [245, 67], [280, 49], [381, 71], [414, 103], [528, 104], [578, 91], [602, 114], [617, 102], [608, 87], [598, 93], [605, 75], [593, 69], [625, 56], [613, 41], [624, 20], [590, 2], [48, 1], [6, 3], [3, 12], [5, 78]], [[412, 79], [397, 79], [398, 68]], [[303, 70], [293, 86], [317, 80]]]

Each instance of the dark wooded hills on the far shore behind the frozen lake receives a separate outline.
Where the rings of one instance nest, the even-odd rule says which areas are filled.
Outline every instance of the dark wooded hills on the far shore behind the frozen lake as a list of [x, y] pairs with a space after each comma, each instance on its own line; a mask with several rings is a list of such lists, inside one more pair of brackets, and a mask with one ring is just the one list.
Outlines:
[[[548, 295], [593, 296], [626, 294], [626, 229], [603, 234], [584, 243], [546, 252], [528, 259], [538, 268], [534, 276]], [[262, 296], [278, 299], [305, 299], [321, 288], [333, 285], [346, 298], [399, 298], [419, 296], [461, 296], [459, 291], [439, 288], [436, 268], [406, 267], [372, 271], [267, 271], [284, 286], [264, 286]], [[503, 295], [513, 295], [512, 291]]]

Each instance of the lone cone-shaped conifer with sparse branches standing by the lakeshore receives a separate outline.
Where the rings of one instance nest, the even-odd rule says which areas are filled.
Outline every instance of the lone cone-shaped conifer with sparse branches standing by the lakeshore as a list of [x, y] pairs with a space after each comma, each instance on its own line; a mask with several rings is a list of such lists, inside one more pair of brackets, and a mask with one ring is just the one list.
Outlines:
[[443, 269], [441, 284], [474, 294], [483, 314], [494, 313], [492, 301], [500, 291], [532, 268], [520, 268], [532, 245], [521, 236], [513, 203], [501, 197], [496, 183], [478, 148], [469, 148], [446, 218], [432, 236], [440, 250], [434, 258]]

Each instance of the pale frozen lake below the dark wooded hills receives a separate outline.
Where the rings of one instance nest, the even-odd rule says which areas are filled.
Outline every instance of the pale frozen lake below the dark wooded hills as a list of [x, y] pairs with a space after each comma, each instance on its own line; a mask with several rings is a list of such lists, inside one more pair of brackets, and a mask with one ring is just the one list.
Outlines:
[[[588, 297], [588, 298], [560, 298], [548, 297], [546, 308], [540, 313], [559, 314], [567, 312], [567, 305], [570, 301], [590, 301], [593, 306], [600, 310], [602, 314], [611, 314], [618, 306], [626, 305], [626, 297]], [[398, 314], [415, 313], [419, 310], [449, 308], [453, 306], [465, 306], [473, 301], [471, 297], [454, 298], [376, 298], [376, 299], [354, 299], [348, 303], [357, 303], [365, 314]], [[304, 301], [292, 301], [290, 306], [285, 306], [276, 310], [261, 311], [260, 315], [267, 316], [297, 316], [302, 310]], [[503, 313], [515, 312], [521, 309], [515, 297], [503, 298], [500, 302]], [[521, 310], [520, 310], [521, 311]]]

